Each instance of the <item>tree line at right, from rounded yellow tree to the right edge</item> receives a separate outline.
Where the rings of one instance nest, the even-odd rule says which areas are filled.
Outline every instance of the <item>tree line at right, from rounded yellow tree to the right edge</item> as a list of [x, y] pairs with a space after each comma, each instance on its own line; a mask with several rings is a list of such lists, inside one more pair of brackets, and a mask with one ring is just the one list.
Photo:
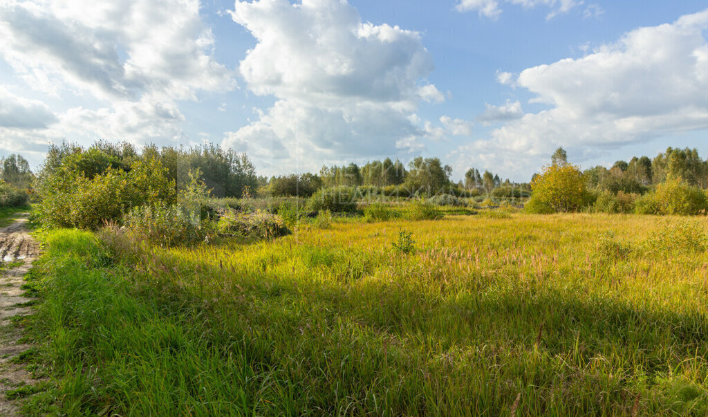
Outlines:
[[655, 158], [634, 157], [610, 168], [581, 171], [563, 148], [531, 181], [530, 212], [636, 212], [653, 215], [708, 213], [708, 161], [697, 149], [675, 149]]

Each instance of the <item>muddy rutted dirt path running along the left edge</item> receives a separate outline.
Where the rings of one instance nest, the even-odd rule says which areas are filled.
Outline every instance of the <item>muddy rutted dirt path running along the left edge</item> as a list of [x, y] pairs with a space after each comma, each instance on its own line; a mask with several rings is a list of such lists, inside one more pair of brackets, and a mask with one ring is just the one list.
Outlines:
[[0, 229], [0, 416], [18, 414], [18, 404], [8, 400], [5, 392], [36, 382], [24, 365], [13, 363], [16, 355], [31, 347], [18, 343], [22, 329], [11, 319], [32, 312], [26, 304], [30, 299], [22, 297], [21, 286], [39, 247], [28, 234], [26, 222], [26, 217], [20, 217]]

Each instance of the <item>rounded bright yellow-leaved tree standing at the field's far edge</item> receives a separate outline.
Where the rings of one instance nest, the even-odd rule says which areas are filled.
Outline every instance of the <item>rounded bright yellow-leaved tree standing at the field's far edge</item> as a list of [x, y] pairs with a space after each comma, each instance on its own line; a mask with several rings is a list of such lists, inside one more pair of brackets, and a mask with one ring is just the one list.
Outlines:
[[531, 181], [529, 212], [576, 212], [590, 204], [586, 182], [578, 166], [551, 164]]

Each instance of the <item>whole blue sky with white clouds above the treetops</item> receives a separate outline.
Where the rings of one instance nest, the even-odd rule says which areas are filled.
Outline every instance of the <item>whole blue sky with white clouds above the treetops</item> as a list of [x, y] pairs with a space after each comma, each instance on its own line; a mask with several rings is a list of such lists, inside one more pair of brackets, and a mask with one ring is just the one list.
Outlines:
[[436, 156], [529, 181], [708, 156], [705, 1], [0, 0], [0, 156], [98, 139], [261, 175]]

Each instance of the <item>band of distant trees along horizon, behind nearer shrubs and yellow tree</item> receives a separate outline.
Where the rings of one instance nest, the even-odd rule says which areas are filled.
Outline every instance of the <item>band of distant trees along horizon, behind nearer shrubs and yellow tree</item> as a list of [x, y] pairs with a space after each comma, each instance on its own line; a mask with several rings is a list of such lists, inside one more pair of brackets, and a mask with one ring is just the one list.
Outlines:
[[[498, 174], [470, 168], [461, 181], [452, 181], [452, 168], [438, 158], [418, 157], [404, 164], [398, 159], [370, 161], [358, 166], [323, 166], [318, 173], [292, 173], [285, 176], [258, 176], [246, 154], [222, 149], [215, 144], [197, 147], [156, 147], [147, 145], [138, 151], [132, 144], [96, 142], [84, 148], [76, 144], [52, 145], [37, 173], [30, 170], [21, 155], [0, 160], [0, 179], [21, 189], [47, 178], [60, 166], [74, 166], [92, 178], [107, 168], [129, 170], [137, 159], [155, 159], [166, 168], [166, 176], [178, 190], [190, 181], [202, 181], [215, 198], [308, 197], [321, 188], [353, 187], [367, 193], [384, 195], [431, 195], [449, 193], [458, 196], [498, 198], [527, 197], [530, 183], [502, 181]], [[559, 148], [552, 164], [567, 163], [566, 152]], [[535, 174], [536, 175], [536, 174]], [[658, 154], [617, 161], [610, 168], [595, 166], [582, 172], [588, 190], [595, 194], [642, 195], [668, 178], [680, 178], [687, 185], [708, 188], [708, 161], [697, 149], [673, 149]], [[533, 178], [531, 178], [533, 179]]]

